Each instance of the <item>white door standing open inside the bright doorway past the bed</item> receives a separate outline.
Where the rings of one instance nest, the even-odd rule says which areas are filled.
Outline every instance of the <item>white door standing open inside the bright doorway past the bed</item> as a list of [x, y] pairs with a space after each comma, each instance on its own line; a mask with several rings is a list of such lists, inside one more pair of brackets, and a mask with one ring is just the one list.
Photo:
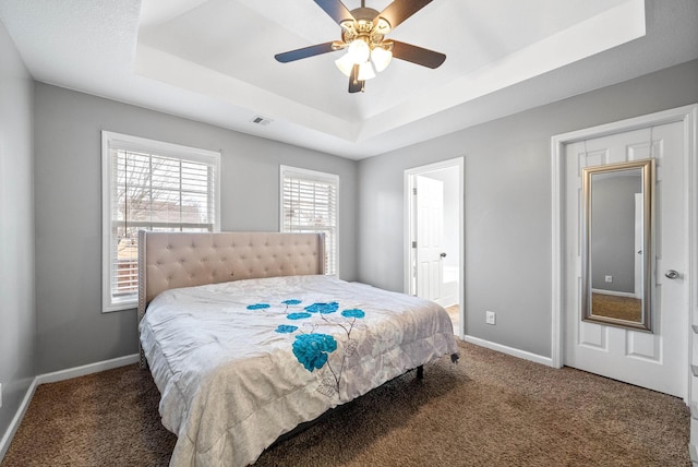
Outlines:
[[443, 304], [444, 182], [417, 176], [417, 296]]

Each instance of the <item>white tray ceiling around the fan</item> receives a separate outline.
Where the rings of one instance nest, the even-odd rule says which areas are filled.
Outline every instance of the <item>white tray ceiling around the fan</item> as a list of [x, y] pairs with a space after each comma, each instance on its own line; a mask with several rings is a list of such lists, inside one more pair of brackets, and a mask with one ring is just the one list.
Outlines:
[[0, 0], [0, 21], [37, 81], [354, 159], [698, 58], [696, 0], [434, 0], [388, 37], [445, 63], [357, 94], [341, 52], [274, 60], [339, 39], [312, 0]]

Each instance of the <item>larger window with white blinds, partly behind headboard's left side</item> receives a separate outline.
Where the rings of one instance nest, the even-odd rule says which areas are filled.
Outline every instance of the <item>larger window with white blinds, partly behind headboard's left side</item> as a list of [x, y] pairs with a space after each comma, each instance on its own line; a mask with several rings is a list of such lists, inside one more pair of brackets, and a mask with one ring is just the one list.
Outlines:
[[220, 153], [103, 131], [103, 311], [134, 308], [137, 231], [219, 229]]

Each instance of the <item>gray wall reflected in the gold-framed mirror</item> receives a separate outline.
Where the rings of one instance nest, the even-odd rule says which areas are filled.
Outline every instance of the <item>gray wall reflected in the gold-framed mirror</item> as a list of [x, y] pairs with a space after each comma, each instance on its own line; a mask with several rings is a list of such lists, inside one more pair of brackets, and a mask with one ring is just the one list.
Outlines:
[[591, 287], [634, 294], [635, 193], [642, 192], [642, 178], [601, 178], [591, 192]]

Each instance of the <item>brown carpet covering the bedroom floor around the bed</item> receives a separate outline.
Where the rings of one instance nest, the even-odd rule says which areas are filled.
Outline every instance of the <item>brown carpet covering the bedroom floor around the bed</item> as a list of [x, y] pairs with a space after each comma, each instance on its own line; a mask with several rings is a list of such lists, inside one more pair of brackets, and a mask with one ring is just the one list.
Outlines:
[[[690, 466], [675, 397], [460, 344], [340, 407], [260, 466]], [[167, 465], [174, 436], [148, 372], [40, 385], [1, 466]]]

